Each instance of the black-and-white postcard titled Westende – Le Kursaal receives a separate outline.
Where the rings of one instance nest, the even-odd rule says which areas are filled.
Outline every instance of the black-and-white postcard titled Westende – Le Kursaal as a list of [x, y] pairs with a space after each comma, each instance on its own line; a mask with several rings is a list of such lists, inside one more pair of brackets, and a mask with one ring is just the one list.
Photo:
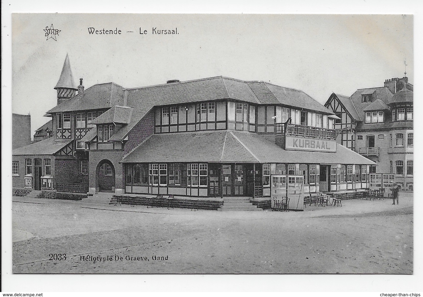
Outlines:
[[13, 14], [14, 274], [413, 274], [413, 16]]

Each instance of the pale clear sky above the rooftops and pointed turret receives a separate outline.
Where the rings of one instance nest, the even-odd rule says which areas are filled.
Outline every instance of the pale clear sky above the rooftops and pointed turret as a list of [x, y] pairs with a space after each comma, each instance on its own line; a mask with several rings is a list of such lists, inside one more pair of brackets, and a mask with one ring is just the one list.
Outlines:
[[[60, 30], [56, 40], [46, 40], [51, 25]], [[89, 34], [89, 27], [122, 33]], [[154, 35], [153, 28], [178, 34]], [[56, 105], [66, 54], [75, 84], [83, 78], [85, 88], [222, 75], [302, 90], [324, 104], [332, 92], [349, 96], [403, 77], [404, 62], [413, 84], [413, 16], [14, 14], [12, 112], [31, 114], [31, 134]]]

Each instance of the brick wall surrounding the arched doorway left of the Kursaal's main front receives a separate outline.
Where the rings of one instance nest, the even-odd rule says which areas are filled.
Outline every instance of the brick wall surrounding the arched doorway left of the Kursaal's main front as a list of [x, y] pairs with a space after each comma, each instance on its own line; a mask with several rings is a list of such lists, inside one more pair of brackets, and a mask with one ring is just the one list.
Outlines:
[[103, 160], [108, 160], [115, 171], [115, 188], [124, 189], [124, 166], [119, 161], [122, 160], [124, 152], [121, 150], [90, 150], [90, 161], [89, 161], [89, 185], [91, 188], [96, 188], [99, 191], [99, 172], [97, 172], [97, 166]]

